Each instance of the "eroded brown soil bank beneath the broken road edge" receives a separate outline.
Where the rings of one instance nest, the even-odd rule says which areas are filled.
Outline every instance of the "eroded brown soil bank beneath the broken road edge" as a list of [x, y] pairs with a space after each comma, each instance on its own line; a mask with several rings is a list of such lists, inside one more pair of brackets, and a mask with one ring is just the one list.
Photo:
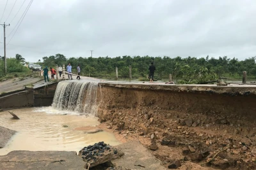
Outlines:
[[256, 168], [255, 88], [101, 87], [100, 121], [125, 141], [139, 139], [165, 167]]

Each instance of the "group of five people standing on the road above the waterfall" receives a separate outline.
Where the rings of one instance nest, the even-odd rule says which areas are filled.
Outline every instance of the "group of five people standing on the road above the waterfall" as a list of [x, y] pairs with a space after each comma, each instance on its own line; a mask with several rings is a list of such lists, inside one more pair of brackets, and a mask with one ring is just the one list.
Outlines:
[[[56, 73], [56, 70], [52, 67], [50, 67], [50, 71], [51, 71], [51, 79], [54, 79], [54, 76], [57, 74]], [[63, 73], [63, 68], [61, 66], [58, 67], [58, 71], [59, 71], [59, 74], [60, 74], [60, 77], [61, 77], [61, 74]], [[47, 66], [45, 66], [44, 68], [44, 81], [46, 82], [49, 81], [49, 76], [48, 76], [48, 72], [49, 72], [49, 69]], [[70, 63], [68, 63], [68, 66], [67, 66], [67, 72], [68, 72], [68, 80], [73, 80], [72, 78], [72, 66]], [[81, 69], [80, 69], [80, 65], [77, 66], [77, 80], [80, 80], [80, 73], [81, 73]]]

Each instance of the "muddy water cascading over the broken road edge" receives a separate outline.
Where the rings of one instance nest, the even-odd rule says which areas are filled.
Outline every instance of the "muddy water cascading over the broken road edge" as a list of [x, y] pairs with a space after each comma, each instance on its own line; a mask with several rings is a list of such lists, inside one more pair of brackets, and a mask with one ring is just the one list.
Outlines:
[[97, 89], [99, 81], [61, 81], [58, 83], [52, 107], [80, 113], [97, 114]]

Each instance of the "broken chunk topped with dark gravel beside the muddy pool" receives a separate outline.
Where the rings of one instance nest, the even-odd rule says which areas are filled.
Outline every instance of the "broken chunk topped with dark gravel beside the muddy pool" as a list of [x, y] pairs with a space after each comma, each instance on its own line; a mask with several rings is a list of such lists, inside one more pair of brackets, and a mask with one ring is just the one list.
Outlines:
[[98, 166], [110, 160], [122, 157], [124, 153], [113, 146], [106, 145], [104, 142], [95, 143], [94, 145], [89, 145], [84, 147], [79, 151], [79, 156], [81, 156], [86, 162], [84, 168]]

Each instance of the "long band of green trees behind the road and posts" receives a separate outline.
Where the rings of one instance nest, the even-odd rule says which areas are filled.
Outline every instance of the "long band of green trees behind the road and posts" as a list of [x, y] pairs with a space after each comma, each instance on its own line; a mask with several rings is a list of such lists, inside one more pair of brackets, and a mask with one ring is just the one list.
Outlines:
[[[129, 78], [129, 66], [132, 67], [132, 78], [140, 81], [148, 80], [148, 66], [154, 62], [156, 66], [155, 79], [168, 80], [172, 74], [173, 80], [180, 83], [202, 83], [217, 80], [223, 77], [241, 79], [243, 71], [247, 71], [248, 78], [256, 78], [256, 57], [245, 60], [228, 57], [218, 59], [205, 57], [149, 57], [149, 56], [123, 56], [123, 57], [72, 57], [67, 59], [64, 55], [56, 54], [43, 57], [44, 66], [56, 67], [56, 64], [70, 64], [76, 68], [81, 65], [81, 74], [97, 78], [115, 79], [115, 67], [118, 67], [118, 78]], [[76, 69], [73, 69], [75, 71]]]

